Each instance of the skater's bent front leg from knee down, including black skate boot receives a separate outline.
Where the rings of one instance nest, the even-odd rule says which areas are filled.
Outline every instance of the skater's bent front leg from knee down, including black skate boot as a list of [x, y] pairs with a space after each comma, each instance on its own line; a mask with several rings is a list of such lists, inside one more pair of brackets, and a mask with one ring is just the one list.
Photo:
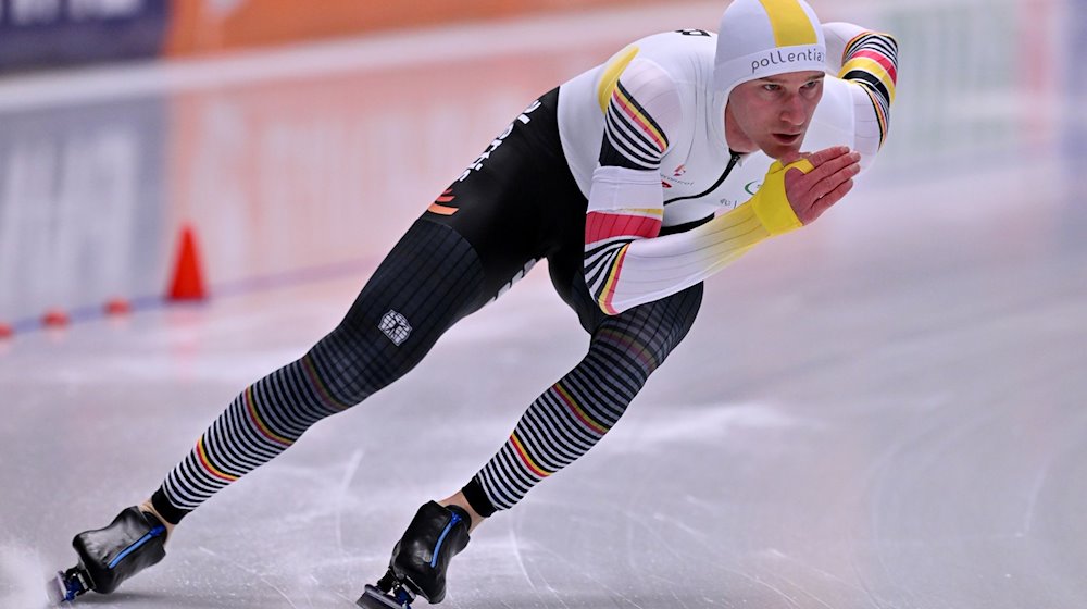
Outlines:
[[[388, 607], [382, 602], [403, 594], [405, 585], [439, 601], [449, 560], [467, 545], [471, 531], [592, 448], [687, 335], [701, 300], [699, 284], [620, 315], [601, 315], [585, 359], [528, 407], [498, 455], [460, 493], [420, 509], [378, 583], [390, 596], [367, 589], [360, 602]], [[442, 545], [447, 536], [454, 543]]]

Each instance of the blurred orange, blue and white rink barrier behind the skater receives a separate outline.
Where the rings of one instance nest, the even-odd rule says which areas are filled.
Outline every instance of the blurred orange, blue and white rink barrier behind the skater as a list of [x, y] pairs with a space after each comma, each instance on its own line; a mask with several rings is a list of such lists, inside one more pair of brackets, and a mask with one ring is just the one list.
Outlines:
[[[637, 36], [715, 29], [721, 7], [0, 0], [0, 323], [161, 296], [184, 224], [220, 293], [371, 261], [526, 100]], [[1076, 174], [1084, 7], [820, 2], [902, 45], [871, 179]]]

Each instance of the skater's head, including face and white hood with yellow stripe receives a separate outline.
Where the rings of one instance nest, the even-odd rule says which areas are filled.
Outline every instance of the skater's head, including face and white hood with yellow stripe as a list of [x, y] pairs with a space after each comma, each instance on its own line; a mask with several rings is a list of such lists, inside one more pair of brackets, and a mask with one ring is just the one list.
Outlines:
[[721, 17], [714, 88], [727, 96], [729, 146], [799, 151], [823, 97], [826, 42], [804, 0], [734, 0]]

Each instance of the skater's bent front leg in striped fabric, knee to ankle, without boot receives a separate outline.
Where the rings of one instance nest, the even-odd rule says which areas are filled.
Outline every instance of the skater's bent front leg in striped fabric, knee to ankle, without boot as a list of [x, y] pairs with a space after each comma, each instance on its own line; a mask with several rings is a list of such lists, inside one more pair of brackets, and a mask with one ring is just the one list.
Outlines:
[[585, 455], [687, 335], [701, 299], [699, 284], [605, 318], [585, 359], [528, 407], [501, 450], [448, 500], [463, 499], [487, 518]]

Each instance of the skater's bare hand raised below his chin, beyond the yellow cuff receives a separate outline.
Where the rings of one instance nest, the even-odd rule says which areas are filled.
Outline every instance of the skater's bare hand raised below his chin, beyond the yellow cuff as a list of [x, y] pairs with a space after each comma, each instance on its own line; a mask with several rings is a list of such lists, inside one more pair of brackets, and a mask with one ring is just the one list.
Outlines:
[[861, 172], [861, 156], [846, 146], [834, 146], [817, 152], [790, 152], [779, 160], [789, 165], [803, 159], [811, 163], [811, 170], [788, 169], [785, 194], [792, 212], [807, 226], [853, 188], [853, 176]]

